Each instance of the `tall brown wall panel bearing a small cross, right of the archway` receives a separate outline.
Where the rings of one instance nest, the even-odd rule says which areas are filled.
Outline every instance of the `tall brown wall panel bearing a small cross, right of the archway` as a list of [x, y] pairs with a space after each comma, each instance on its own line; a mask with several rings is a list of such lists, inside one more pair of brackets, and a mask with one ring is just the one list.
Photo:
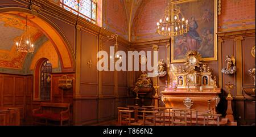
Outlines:
[[[97, 51], [98, 37], [81, 29], [80, 96], [95, 98], [98, 95]], [[93, 90], [84, 91], [85, 87]]]

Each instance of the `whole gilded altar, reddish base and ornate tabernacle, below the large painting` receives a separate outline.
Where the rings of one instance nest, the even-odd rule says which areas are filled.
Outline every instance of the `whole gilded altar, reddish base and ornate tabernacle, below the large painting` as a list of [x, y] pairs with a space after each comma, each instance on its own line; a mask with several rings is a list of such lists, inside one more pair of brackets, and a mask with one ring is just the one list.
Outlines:
[[216, 110], [220, 101], [216, 77], [212, 69], [200, 62], [196, 51], [187, 53], [185, 67], [179, 66], [172, 75], [172, 86], [164, 88], [163, 101], [166, 107], [177, 109]]

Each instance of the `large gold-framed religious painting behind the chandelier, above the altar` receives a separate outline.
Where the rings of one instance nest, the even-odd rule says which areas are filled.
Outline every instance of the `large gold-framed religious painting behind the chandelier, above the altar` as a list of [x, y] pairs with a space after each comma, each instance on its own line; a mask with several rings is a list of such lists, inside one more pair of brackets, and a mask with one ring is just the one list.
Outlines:
[[217, 10], [216, 0], [176, 1], [189, 31], [181, 36], [172, 37], [171, 61], [184, 62], [189, 50], [196, 50], [204, 61], [217, 60]]

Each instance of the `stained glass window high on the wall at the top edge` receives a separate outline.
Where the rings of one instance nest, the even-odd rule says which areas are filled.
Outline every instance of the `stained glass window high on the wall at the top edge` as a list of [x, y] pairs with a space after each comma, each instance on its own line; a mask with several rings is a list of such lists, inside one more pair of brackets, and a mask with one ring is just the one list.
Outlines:
[[96, 0], [60, 0], [60, 7], [96, 24]]

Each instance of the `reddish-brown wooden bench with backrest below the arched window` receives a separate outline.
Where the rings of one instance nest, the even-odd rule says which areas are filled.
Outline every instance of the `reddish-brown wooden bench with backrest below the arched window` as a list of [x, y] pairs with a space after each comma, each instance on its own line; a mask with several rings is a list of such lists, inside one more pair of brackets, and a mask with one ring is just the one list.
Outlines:
[[70, 125], [70, 104], [67, 103], [54, 103], [54, 102], [41, 102], [38, 109], [32, 110], [32, 117], [34, 123], [50, 125], [50, 122], [68, 122]]

